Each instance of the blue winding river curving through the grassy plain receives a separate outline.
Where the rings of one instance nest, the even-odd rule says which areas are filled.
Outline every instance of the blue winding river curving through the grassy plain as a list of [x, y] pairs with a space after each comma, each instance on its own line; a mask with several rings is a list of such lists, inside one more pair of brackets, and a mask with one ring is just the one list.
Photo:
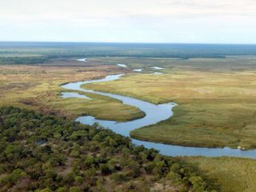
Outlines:
[[[93, 82], [110, 82], [121, 78], [123, 74], [115, 74], [106, 76], [106, 78], [91, 80], [85, 82], [72, 82], [62, 85], [62, 88], [67, 90], [75, 90], [75, 91], [83, 91], [86, 93], [94, 93], [101, 94], [104, 96], [108, 96], [110, 98], [117, 98], [121, 100], [124, 104], [138, 107], [138, 109], [142, 110], [146, 115], [143, 118], [139, 118], [130, 122], [114, 122], [114, 121], [106, 121], [99, 120], [92, 116], [84, 116], [77, 118], [78, 122], [82, 122], [83, 124], [93, 125], [95, 122], [98, 122], [99, 125], [104, 126], [110, 130], [113, 130], [117, 134], [122, 134], [123, 136], [129, 137], [131, 130], [136, 130], [143, 126], [149, 126], [155, 124], [157, 122], [161, 122], [170, 118], [173, 115], [173, 107], [177, 106], [176, 103], [166, 103], [161, 105], [154, 105], [150, 102], [145, 102], [136, 98], [130, 98], [118, 94], [110, 94], [95, 90], [86, 90], [82, 89], [83, 84], [89, 84]], [[82, 97], [81, 94], [64, 94], [64, 98], [86, 98], [86, 96]], [[195, 138], [196, 139], [196, 138]], [[206, 157], [218, 157], [218, 156], [230, 156], [230, 157], [243, 157], [243, 158], [256, 158], [256, 150], [239, 150], [239, 149], [230, 149], [228, 147], [225, 148], [202, 148], [202, 147], [190, 147], [190, 146], [173, 146], [168, 144], [161, 144], [155, 142], [145, 142], [137, 139], [131, 139], [135, 145], [143, 145], [146, 148], [154, 148], [155, 150], [159, 150], [161, 154], [169, 155], [169, 156], [206, 156]]]

